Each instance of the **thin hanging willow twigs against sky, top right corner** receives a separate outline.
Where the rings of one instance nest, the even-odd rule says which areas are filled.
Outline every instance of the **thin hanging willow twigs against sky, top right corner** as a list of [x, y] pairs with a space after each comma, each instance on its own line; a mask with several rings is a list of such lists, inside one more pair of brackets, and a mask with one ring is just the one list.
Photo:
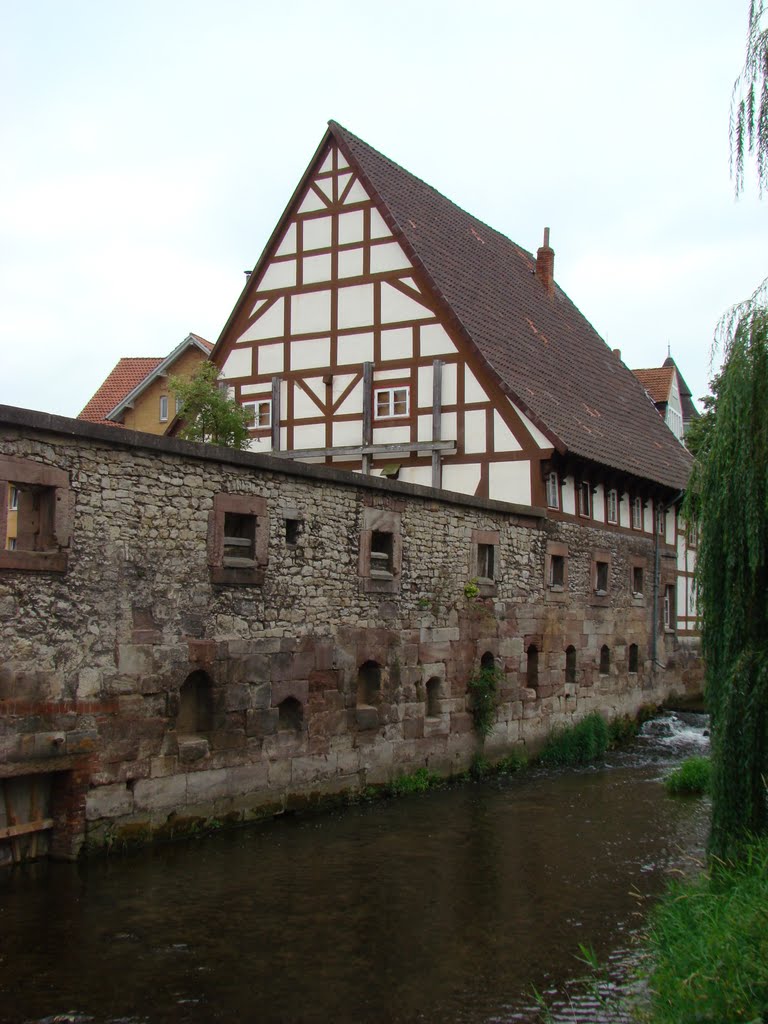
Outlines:
[[768, 15], [766, 0], [751, 0], [746, 57], [731, 97], [731, 172], [736, 195], [744, 187], [744, 158], [755, 157], [758, 188], [768, 187]]

